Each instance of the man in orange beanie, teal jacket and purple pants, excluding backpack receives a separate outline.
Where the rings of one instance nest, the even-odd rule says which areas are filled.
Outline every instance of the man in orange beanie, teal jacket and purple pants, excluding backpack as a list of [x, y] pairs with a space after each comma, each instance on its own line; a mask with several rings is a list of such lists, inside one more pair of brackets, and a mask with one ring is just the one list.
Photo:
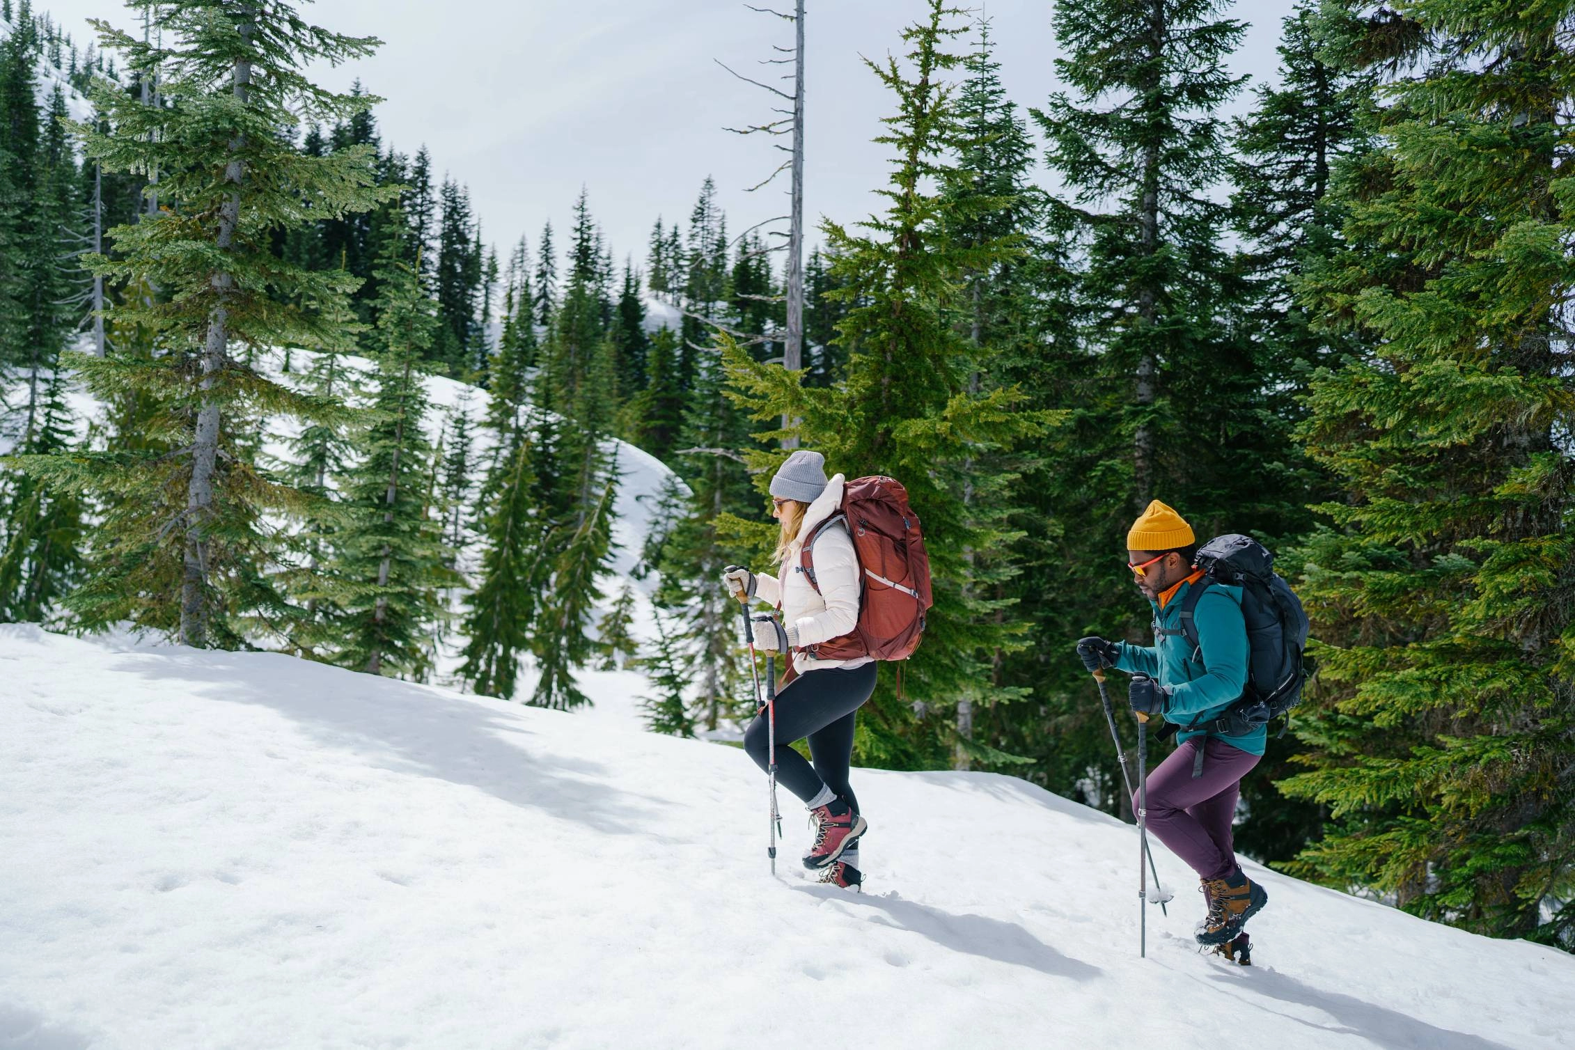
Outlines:
[[[1158, 499], [1132, 524], [1126, 546], [1128, 568], [1154, 611], [1154, 644], [1084, 638], [1077, 655], [1088, 671], [1131, 672], [1132, 713], [1180, 727], [1177, 749], [1148, 775], [1148, 831], [1202, 880], [1208, 916], [1197, 941], [1225, 945], [1268, 902], [1236, 863], [1230, 831], [1241, 778], [1263, 757], [1268, 732], [1258, 726], [1232, 735], [1216, 723], [1247, 683], [1241, 587], [1205, 581], [1194, 567], [1192, 526]], [[1189, 603], [1197, 587], [1203, 592]], [[1188, 608], [1195, 647], [1181, 619]]]

